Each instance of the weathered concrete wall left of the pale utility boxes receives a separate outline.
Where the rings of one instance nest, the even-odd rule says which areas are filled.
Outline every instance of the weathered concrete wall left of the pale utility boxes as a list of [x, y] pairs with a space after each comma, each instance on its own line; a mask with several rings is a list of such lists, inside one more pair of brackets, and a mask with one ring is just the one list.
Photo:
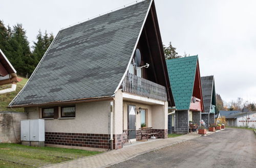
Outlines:
[[0, 143], [19, 143], [20, 142], [20, 120], [26, 120], [26, 119], [28, 119], [27, 113], [1, 111], [0, 112]]

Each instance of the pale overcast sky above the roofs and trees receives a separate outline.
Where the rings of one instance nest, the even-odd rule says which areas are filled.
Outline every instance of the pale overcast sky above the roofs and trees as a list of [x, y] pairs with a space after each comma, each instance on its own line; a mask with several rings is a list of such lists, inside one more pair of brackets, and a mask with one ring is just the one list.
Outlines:
[[[65, 26], [133, 3], [133, 0], [2, 1], [0, 19], [22, 23], [31, 45], [40, 29], [54, 36]], [[256, 103], [256, 1], [155, 0], [162, 41], [199, 56], [201, 76], [214, 75], [226, 102]]]

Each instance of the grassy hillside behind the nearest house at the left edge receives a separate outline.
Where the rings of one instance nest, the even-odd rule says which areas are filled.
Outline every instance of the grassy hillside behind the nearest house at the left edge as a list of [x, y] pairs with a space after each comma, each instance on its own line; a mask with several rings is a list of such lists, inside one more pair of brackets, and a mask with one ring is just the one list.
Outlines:
[[[20, 111], [23, 112], [24, 108], [7, 108], [9, 103], [12, 101], [12, 99], [19, 93], [20, 90], [25, 86], [26, 82], [28, 81], [27, 78], [19, 77], [22, 78], [22, 81], [17, 83], [17, 88], [15, 92], [10, 92], [6, 94], [1, 94], [0, 95], [0, 111]], [[10, 88], [11, 85], [3, 85], [0, 86], [0, 90]]]

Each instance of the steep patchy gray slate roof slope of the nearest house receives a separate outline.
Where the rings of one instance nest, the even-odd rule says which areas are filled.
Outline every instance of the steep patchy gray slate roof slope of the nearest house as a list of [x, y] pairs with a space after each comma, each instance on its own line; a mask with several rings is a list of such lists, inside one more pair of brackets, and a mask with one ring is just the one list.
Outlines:
[[61, 30], [10, 106], [113, 95], [150, 4], [137, 3]]

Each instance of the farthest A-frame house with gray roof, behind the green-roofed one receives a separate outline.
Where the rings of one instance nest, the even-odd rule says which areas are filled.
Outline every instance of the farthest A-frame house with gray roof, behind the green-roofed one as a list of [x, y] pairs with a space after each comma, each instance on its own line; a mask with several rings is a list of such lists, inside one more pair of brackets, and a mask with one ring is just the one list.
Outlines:
[[202, 76], [201, 82], [205, 110], [201, 118], [208, 128], [210, 124], [215, 123], [215, 114], [217, 114], [214, 76]]

